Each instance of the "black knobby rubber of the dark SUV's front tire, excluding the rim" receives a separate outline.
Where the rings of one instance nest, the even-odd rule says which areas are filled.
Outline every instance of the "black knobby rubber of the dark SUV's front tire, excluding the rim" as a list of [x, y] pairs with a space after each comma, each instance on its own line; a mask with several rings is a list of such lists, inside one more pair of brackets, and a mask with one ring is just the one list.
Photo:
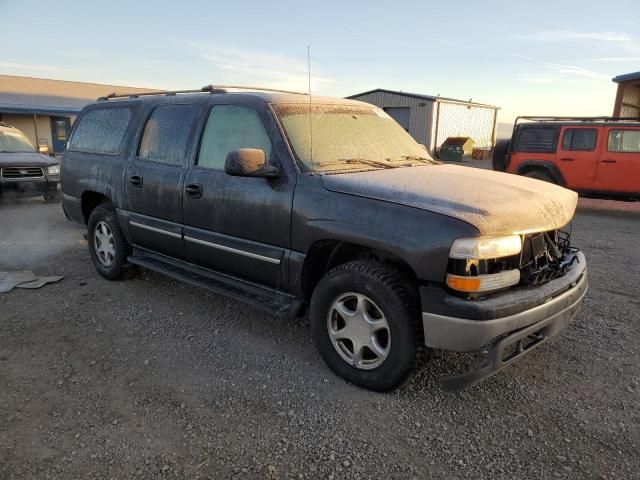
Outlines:
[[[405, 381], [424, 345], [418, 296], [410, 285], [394, 269], [369, 260], [346, 263], [324, 275], [313, 292], [309, 311], [313, 341], [331, 370], [351, 383], [381, 392]], [[373, 369], [362, 370], [347, 363], [330, 339], [327, 323], [331, 305], [347, 292], [369, 297], [388, 322], [389, 353]]]

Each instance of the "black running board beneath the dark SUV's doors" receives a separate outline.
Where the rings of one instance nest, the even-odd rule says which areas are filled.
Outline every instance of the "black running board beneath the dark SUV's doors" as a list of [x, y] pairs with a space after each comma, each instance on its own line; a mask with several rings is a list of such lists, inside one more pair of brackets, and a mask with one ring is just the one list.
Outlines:
[[302, 302], [293, 295], [184, 264], [146, 250], [134, 248], [127, 260], [134, 265], [240, 300], [279, 317], [296, 318], [302, 311]]

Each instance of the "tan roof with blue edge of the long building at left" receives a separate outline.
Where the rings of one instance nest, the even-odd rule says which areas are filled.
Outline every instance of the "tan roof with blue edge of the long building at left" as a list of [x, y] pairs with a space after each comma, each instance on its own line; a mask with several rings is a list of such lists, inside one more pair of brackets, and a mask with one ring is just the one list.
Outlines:
[[0, 112], [77, 115], [96, 98], [113, 92], [142, 93], [150, 89], [0, 75]]

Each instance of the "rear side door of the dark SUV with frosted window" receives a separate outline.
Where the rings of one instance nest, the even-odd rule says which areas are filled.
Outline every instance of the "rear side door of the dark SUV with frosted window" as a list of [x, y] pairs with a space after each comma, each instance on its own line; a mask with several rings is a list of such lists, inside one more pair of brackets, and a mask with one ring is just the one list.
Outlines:
[[125, 174], [127, 222], [137, 246], [184, 258], [182, 185], [199, 108], [157, 105], [150, 112]]

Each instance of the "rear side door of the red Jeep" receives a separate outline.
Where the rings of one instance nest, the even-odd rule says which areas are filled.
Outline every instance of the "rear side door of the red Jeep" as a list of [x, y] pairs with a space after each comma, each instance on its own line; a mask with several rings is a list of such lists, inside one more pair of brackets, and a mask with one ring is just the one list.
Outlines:
[[598, 165], [598, 130], [591, 127], [563, 127], [556, 165], [567, 187], [592, 190]]

